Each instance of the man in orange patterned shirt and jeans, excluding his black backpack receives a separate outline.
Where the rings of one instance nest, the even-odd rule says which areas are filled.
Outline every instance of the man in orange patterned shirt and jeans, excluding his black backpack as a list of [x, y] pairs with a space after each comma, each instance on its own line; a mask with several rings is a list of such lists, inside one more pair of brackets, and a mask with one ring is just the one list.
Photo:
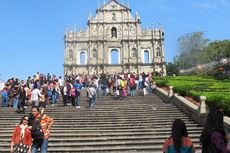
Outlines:
[[[48, 141], [49, 131], [50, 131], [50, 128], [52, 127], [52, 125], [54, 123], [54, 120], [53, 120], [53, 118], [51, 118], [51, 117], [49, 117], [43, 113], [40, 114], [38, 107], [32, 107], [32, 115], [34, 117], [34, 120], [37, 120], [40, 122], [42, 131], [44, 134], [42, 141], [40, 139], [38, 141], [33, 140], [32, 153], [37, 153], [39, 148], [40, 148], [41, 153], [47, 153], [48, 142], [49, 142]], [[33, 135], [33, 132], [32, 132], [32, 135]]]

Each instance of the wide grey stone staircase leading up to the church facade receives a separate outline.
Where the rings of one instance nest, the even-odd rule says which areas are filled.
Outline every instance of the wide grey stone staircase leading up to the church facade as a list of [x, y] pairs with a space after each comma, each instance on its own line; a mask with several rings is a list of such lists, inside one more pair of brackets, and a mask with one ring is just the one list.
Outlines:
[[[55, 119], [48, 152], [161, 153], [176, 118], [185, 121], [197, 152], [201, 152], [199, 136], [202, 127], [156, 95], [124, 100], [107, 96], [97, 101], [93, 110], [88, 110], [87, 106], [85, 93], [81, 109], [63, 107], [61, 101], [58, 106], [48, 106], [45, 113]], [[0, 152], [9, 152], [11, 134], [22, 116], [12, 109], [0, 108]]]

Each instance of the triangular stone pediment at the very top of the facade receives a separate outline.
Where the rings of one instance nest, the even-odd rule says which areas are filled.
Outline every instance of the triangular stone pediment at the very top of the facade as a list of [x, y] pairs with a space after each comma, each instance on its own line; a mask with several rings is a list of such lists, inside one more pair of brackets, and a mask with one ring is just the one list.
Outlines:
[[130, 8], [120, 4], [118, 1], [116, 0], [111, 0], [110, 2], [108, 2], [107, 4], [105, 4], [104, 6], [102, 6], [100, 9], [98, 9], [99, 11], [109, 11], [109, 10], [130, 10]]

